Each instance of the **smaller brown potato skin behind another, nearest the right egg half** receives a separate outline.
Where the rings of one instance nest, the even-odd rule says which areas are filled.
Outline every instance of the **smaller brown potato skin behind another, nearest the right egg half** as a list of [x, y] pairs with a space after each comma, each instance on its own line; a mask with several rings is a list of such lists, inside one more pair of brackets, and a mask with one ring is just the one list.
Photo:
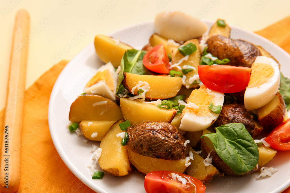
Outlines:
[[242, 66], [251, 68], [257, 56], [261, 56], [260, 50], [255, 45], [245, 40], [237, 39], [233, 40], [233, 42], [239, 47], [244, 55]]

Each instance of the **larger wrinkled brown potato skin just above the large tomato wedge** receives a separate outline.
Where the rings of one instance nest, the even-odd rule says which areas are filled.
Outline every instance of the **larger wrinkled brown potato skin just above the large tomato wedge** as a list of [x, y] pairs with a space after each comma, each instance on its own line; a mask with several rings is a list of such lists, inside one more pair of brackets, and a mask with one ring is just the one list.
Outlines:
[[242, 60], [244, 59], [243, 53], [230, 38], [222, 35], [214, 35], [206, 43], [208, 45], [207, 52], [218, 57], [220, 60], [225, 58], [230, 60], [226, 65], [242, 66]]

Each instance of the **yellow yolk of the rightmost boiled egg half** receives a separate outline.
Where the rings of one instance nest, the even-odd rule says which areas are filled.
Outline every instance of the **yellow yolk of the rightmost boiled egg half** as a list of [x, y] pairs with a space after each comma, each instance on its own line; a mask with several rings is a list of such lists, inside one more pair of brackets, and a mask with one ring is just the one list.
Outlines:
[[258, 87], [267, 82], [274, 75], [274, 69], [269, 64], [253, 63], [248, 88]]

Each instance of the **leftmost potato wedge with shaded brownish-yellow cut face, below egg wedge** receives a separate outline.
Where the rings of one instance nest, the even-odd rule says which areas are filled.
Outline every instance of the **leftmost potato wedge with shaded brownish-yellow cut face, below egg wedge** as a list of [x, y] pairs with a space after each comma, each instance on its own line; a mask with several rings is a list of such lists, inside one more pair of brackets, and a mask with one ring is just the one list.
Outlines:
[[68, 119], [71, 122], [116, 121], [123, 119], [123, 115], [111, 100], [99, 95], [81, 95], [71, 104]]

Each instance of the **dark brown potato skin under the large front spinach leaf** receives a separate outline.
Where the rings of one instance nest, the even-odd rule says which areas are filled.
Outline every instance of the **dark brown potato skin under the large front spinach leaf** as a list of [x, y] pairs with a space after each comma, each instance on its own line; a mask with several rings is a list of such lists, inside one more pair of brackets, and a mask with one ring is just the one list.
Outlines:
[[234, 176], [234, 177], [242, 177], [242, 176], [247, 176], [247, 175], [255, 172], [258, 169], [258, 167], [255, 167], [253, 170], [251, 170], [247, 173], [236, 174], [228, 165], [226, 165], [226, 163], [224, 163], [224, 161], [218, 156], [218, 154], [215, 150], [211, 149], [209, 146], [206, 145], [204, 139], [201, 139], [201, 149], [202, 149], [204, 159], [210, 153], [211, 154], [210, 157], [213, 157], [213, 160], [212, 160], [213, 166], [215, 166], [224, 175]]

